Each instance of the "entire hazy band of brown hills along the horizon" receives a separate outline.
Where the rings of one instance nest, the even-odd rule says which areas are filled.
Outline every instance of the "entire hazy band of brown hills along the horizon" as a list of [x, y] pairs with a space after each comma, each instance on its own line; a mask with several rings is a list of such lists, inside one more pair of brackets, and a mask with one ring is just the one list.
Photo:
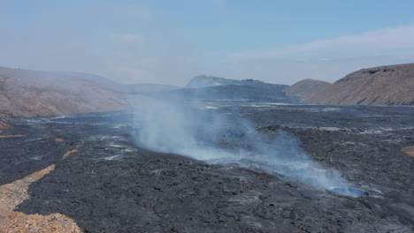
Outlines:
[[81, 72], [0, 67], [0, 121], [15, 116], [126, 109], [131, 106], [130, 94], [143, 93], [158, 92], [167, 97], [200, 99], [297, 102], [298, 98], [303, 98], [305, 102], [320, 104], [414, 105], [413, 90], [414, 64], [362, 69], [334, 84], [303, 79], [287, 86], [257, 79], [235, 80], [200, 75], [191, 79], [184, 88], [156, 84], [123, 85]]

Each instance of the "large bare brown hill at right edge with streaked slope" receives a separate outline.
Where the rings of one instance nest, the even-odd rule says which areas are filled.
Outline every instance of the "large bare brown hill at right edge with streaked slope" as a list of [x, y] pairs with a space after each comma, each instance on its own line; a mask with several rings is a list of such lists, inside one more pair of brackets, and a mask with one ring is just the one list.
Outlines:
[[414, 64], [386, 65], [350, 73], [305, 101], [414, 105]]

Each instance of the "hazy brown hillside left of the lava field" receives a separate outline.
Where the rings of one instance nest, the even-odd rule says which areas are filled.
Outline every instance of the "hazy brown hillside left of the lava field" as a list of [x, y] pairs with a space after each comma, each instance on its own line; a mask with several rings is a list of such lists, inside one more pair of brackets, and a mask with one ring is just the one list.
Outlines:
[[0, 121], [125, 109], [125, 94], [70, 74], [0, 67]]

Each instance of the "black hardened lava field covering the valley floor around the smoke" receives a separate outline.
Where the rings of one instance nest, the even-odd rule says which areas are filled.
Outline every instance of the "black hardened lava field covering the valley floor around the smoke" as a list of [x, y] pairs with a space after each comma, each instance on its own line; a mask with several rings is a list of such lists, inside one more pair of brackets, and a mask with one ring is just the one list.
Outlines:
[[[55, 164], [13, 211], [39, 221], [60, 214], [67, 222], [61, 229], [84, 232], [414, 231], [414, 157], [401, 151], [414, 146], [414, 109], [228, 100], [205, 105], [211, 107], [206, 112], [247, 117], [261, 133], [295, 135], [312, 161], [339, 170], [368, 196], [341, 195], [238, 162], [149, 151], [134, 143], [140, 128], [132, 125], [133, 115], [108, 112], [8, 122], [13, 127], [7, 133], [20, 137], [0, 139], [1, 184]], [[232, 131], [221, 139], [247, 137]], [[7, 221], [0, 218], [0, 224]]]

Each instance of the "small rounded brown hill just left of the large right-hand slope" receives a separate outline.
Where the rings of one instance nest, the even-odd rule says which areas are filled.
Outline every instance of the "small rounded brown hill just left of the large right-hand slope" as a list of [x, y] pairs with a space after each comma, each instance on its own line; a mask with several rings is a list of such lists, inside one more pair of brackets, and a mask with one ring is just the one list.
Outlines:
[[312, 94], [321, 92], [331, 83], [315, 79], [303, 79], [292, 86], [288, 86], [284, 92], [291, 96], [298, 96], [302, 98], [309, 98]]

